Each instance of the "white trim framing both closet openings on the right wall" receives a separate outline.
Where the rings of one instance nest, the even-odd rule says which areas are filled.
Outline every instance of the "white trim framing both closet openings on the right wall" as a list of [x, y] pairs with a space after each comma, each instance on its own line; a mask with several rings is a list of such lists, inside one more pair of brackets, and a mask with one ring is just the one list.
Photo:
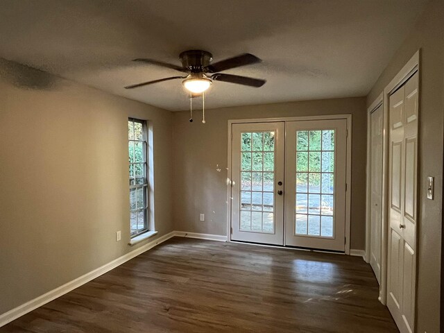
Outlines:
[[[418, 71], [420, 77], [420, 50], [411, 57], [404, 67], [399, 71], [398, 74], [391, 80], [388, 85], [384, 88], [384, 92], [379, 94], [377, 99], [373, 101], [370, 107], [367, 109], [367, 184], [366, 184], [366, 262], [370, 260], [370, 144], [369, 144], [369, 133], [370, 133], [370, 113], [375, 110], [382, 102], [382, 113], [384, 114], [383, 121], [383, 146], [382, 146], [382, 248], [381, 248], [381, 284], [379, 285], [379, 301], [383, 305], [386, 305], [387, 301], [387, 253], [388, 253], [388, 110], [389, 110], [389, 97], [395, 89], [398, 89], [403, 85], [413, 74], [413, 72]], [[420, 107], [420, 105], [419, 105]], [[420, 133], [418, 132], [418, 155], [419, 152], [419, 140]], [[420, 174], [420, 163], [418, 163], [418, 175]], [[419, 186], [418, 186], [419, 189]], [[417, 209], [419, 205], [417, 205]], [[420, 214], [418, 214], [418, 225], [420, 224]], [[418, 244], [418, 228], [416, 231], [416, 244]], [[418, 247], [416, 246], [416, 251]], [[418, 255], [416, 255], [418, 259]], [[418, 265], [416, 265], [416, 274], [418, 274]]]

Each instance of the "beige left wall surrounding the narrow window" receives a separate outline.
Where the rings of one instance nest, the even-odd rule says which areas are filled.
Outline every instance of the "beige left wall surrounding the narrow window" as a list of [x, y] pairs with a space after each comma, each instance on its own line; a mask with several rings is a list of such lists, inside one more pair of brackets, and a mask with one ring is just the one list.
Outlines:
[[171, 112], [0, 61], [0, 314], [143, 244], [128, 246], [128, 116], [153, 125], [166, 234]]

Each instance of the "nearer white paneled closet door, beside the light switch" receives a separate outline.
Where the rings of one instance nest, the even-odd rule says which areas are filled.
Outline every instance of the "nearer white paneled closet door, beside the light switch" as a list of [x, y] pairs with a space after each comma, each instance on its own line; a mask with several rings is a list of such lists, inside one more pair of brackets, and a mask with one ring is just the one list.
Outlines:
[[418, 164], [418, 73], [390, 96], [387, 306], [400, 332], [414, 332]]

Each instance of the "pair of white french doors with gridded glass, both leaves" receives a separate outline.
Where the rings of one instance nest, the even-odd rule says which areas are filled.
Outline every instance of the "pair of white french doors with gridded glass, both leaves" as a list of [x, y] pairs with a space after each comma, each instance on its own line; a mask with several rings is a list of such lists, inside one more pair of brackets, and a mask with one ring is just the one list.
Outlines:
[[232, 124], [232, 240], [345, 250], [347, 120]]

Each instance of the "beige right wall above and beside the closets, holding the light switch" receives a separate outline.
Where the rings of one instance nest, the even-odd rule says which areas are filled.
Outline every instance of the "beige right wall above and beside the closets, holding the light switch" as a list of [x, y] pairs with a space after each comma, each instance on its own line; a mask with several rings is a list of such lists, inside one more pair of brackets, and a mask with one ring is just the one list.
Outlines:
[[[418, 224], [418, 332], [440, 332], [440, 265], [443, 193], [444, 1], [432, 1], [368, 95], [368, 105], [421, 49], [420, 196]], [[435, 177], [435, 199], [426, 198], [427, 176]], [[441, 331], [442, 332], [442, 331]]]

